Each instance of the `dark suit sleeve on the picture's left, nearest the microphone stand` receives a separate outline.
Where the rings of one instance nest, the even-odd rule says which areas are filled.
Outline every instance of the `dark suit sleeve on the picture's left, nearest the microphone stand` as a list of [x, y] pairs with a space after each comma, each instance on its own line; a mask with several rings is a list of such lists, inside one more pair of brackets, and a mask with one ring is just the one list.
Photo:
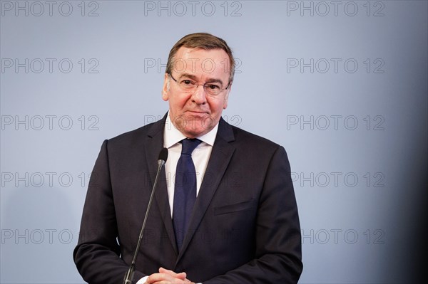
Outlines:
[[[91, 173], [78, 244], [73, 251], [74, 262], [83, 280], [91, 284], [123, 282], [129, 265], [120, 258], [117, 237], [108, 140], [105, 140]], [[143, 276], [136, 271], [134, 280]]]

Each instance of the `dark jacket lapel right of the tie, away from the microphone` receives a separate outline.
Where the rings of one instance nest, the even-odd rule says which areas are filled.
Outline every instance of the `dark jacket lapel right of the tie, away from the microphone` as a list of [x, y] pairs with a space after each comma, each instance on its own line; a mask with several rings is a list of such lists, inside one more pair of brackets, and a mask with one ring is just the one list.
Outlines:
[[220, 180], [225, 174], [232, 154], [235, 151], [235, 147], [229, 142], [233, 142], [234, 140], [235, 138], [232, 127], [228, 125], [223, 118], [220, 118], [213, 151], [211, 152], [202, 184], [200, 185], [198, 198], [196, 199], [192, 216], [190, 217], [188, 233], [186, 233], [183, 240], [183, 245], [181, 246], [180, 253], [177, 258], [177, 263], [180, 261], [180, 258], [183, 256], [186, 248], [188, 248], [190, 240], [193, 238], [200, 221], [202, 221], [205, 211], [207, 211], [208, 206], [210, 206], [211, 199], [213, 199], [215, 191], [218, 189], [218, 185], [220, 184]]

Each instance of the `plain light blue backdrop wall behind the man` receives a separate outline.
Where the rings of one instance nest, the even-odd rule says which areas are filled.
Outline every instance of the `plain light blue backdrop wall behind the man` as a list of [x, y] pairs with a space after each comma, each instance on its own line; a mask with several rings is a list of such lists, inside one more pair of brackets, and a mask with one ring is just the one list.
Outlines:
[[197, 31], [239, 59], [225, 120], [287, 149], [300, 283], [417, 273], [427, 1], [52, 3], [1, 1], [1, 283], [83, 283], [72, 251], [101, 142], [164, 115], [168, 52]]

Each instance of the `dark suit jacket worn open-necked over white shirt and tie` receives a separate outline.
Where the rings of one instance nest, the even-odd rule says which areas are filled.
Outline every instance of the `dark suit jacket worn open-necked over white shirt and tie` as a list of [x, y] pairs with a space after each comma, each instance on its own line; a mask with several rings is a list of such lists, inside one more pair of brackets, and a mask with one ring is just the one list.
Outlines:
[[[163, 120], [103, 142], [73, 257], [88, 283], [122, 283], [133, 258], [163, 147]], [[285, 149], [219, 122], [182, 249], [175, 245], [165, 170], [136, 263], [214, 283], [297, 283], [300, 224]]]

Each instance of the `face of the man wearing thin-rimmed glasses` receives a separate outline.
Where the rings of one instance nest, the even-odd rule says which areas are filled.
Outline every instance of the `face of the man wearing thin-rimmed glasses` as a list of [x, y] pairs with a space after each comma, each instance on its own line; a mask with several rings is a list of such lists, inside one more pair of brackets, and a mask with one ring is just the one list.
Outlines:
[[[205, 92], [203, 84], [215, 83], [224, 89], [230, 75], [229, 56], [222, 49], [205, 51], [200, 48], [181, 47], [175, 53], [173, 71], [165, 74], [163, 100], [169, 101], [170, 120], [186, 137], [205, 135], [217, 125], [221, 113], [228, 106], [228, 90], [218, 95]], [[200, 84], [189, 92], [180, 87], [180, 82], [190, 80]], [[188, 83], [189, 81], [185, 81]]]

